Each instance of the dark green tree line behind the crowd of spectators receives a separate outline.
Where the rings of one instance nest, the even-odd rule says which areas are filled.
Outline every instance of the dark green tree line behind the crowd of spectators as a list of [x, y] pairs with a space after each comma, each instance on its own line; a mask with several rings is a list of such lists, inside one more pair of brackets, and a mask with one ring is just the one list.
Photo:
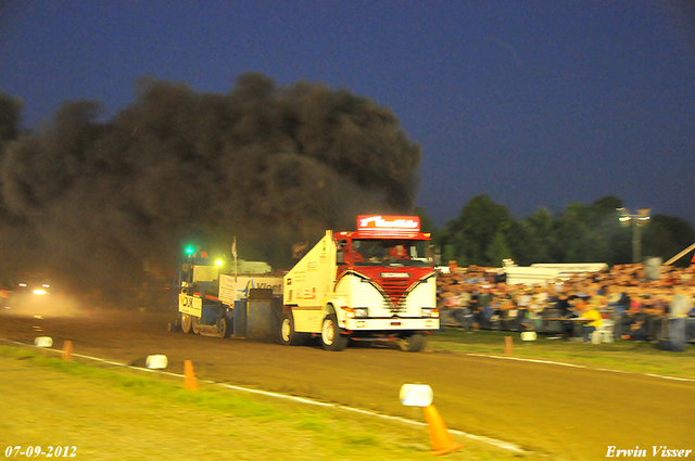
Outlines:
[[[515, 219], [506, 206], [488, 195], [472, 197], [460, 215], [441, 229], [422, 209], [417, 209], [422, 229], [432, 240], [442, 264], [501, 267], [503, 259], [519, 266], [534, 262], [633, 262], [632, 225], [623, 226], [618, 208], [622, 200], [609, 195], [589, 205], [573, 203], [559, 214], [540, 208], [525, 219]], [[664, 261], [695, 243], [695, 230], [686, 220], [653, 215], [640, 229], [642, 257]], [[685, 257], [677, 265], [690, 264]]]

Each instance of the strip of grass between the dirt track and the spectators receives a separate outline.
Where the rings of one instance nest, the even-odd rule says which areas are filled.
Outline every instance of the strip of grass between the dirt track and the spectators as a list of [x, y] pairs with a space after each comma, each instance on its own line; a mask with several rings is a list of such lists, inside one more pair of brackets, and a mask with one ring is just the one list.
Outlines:
[[525, 342], [517, 332], [463, 331], [447, 328], [430, 337], [429, 347], [442, 351], [503, 356], [505, 336], [513, 337], [513, 357], [695, 379], [693, 344], [683, 353], [671, 353], [659, 350], [656, 345], [644, 342], [618, 340], [615, 343], [582, 344], [548, 340], [548, 336], [543, 335], [539, 335], [536, 341]]

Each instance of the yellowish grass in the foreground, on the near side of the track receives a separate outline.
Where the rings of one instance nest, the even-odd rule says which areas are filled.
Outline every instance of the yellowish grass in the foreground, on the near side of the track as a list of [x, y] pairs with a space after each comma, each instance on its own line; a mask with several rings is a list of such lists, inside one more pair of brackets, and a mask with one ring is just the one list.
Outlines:
[[[0, 347], [0, 377], [3, 453], [60, 446], [76, 447], [85, 460], [431, 459], [426, 426], [212, 384], [186, 390], [172, 376], [63, 361], [40, 349]], [[422, 414], [414, 408], [414, 420], [424, 422]], [[466, 447], [448, 459], [518, 459], [460, 438]]]

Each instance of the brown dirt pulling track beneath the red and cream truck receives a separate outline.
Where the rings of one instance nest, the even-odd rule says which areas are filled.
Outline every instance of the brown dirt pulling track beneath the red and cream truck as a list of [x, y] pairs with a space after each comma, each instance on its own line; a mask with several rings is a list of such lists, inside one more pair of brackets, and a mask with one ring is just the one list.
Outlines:
[[[695, 449], [695, 383], [464, 354], [356, 347], [327, 353], [244, 340], [169, 333], [169, 315], [79, 311], [42, 319], [0, 313], [0, 337], [144, 364], [165, 354], [168, 370], [193, 361], [201, 379], [414, 418], [399, 390], [427, 383], [450, 428], [515, 443], [552, 459], [604, 459], [608, 446]], [[421, 417], [420, 414], [415, 414]], [[691, 459], [695, 454], [691, 452]]]

